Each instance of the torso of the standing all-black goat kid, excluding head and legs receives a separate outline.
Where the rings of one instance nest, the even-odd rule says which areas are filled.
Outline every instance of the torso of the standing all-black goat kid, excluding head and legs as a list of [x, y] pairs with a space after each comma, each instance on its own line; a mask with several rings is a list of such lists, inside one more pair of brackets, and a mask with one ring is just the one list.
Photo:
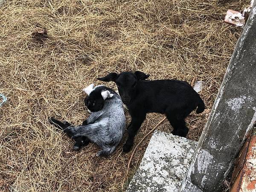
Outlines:
[[186, 82], [178, 80], [138, 81], [134, 105], [143, 105], [146, 112], [193, 111], [201, 98]]

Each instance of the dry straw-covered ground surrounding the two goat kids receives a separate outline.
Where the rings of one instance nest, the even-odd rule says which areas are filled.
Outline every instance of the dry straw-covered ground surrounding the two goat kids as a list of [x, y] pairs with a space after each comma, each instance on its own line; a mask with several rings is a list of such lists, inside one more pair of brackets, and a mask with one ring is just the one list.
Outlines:
[[[247, 2], [246, 2], [247, 4]], [[73, 141], [47, 117], [74, 124], [87, 116], [84, 93], [108, 72], [141, 70], [150, 79], [194, 77], [207, 110], [187, 118], [198, 140], [241, 29], [222, 23], [239, 0], [7, 0], [0, 6], [0, 191], [121, 191], [131, 153], [122, 144], [108, 158], [95, 145], [72, 151]], [[33, 34], [46, 29], [47, 36]], [[116, 88], [114, 83], [106, 85]], [[163, 118], [149, 114], [135, 143]], [[130, 121], [127, 116], [128, 122]], [[127, 122], [127, 123], [128, 123]], [[168, 121], [159, 130], [172, 131]], [[129, 179], [150, 137], [135, 153]], [[127, 183], [125, 183], [127, 184]]]

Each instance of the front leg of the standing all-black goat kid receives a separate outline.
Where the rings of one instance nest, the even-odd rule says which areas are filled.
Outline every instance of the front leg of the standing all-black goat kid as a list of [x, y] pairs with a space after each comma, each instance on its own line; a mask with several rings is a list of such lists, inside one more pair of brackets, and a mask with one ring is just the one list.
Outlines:
[[131, 148], [134, 144], [134, 137], [137, 133], [137, 131], [140, 129], [141, 124], [146, 118], [146, 114], [137, 114], [137, 116], [132, 116], [131, 115], [131, 124], [128, 127], [128, 139], [123, 146], [123, 151], [125, 153], [131, 151]]

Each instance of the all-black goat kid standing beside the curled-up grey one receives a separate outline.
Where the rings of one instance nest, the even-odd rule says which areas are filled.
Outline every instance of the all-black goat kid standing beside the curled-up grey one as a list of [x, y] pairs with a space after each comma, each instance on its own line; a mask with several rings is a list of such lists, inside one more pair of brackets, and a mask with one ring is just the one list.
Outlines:
[[123, 151], [128, 152], [134, 143], [134, 136], [143, 123], [146, 113], [164, 113], [173, 127], [172, 134], [186, 137], [189, 129], [184, 119], [193, 110], [204, 111], [204, 102], [186, 81], [155, 80], [147, 81], [149, 75], [136, 71], [109, 73], [100, 81], [114, 81], [122, 102], [131, 115], [128, 126], [128, 140]]

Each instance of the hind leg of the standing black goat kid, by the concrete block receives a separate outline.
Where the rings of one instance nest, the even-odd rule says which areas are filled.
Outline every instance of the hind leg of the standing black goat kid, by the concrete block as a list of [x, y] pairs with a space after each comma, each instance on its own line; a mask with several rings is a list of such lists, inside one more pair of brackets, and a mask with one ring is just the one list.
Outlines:
[[172, 134], [180, 137], [186, 137], [189, 129], [186, 127], [186, 122], [184, 119], [178, 119], [175, 115], [168, 113], [166, 114], [167, 119], [173, 127]]

